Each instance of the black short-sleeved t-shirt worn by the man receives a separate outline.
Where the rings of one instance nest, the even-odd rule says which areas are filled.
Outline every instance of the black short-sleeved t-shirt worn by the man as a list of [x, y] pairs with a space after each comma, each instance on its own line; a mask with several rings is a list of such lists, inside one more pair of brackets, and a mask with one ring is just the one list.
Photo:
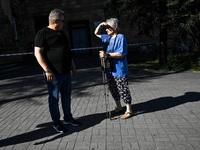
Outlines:
[[42, 28], [35, 37], [35, 47], [44, 47], [44, 59], [55, 74], [70, 72], [72, 54], [63, 31]]

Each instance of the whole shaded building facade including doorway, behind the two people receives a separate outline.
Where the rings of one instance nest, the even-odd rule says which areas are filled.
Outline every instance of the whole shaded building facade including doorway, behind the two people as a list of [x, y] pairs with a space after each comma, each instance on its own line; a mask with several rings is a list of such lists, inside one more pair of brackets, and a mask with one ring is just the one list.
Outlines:
[[[65, 12], [65, 27], [72, 48], [102, 46], [94, 35], [97, 25], [107, 18], [115, 17], [105, 7], [107, 0], [1, 0], [0, 49], [15, 52], [33, 51], [34, 37], [38, 30], [48, 25], [48, 15], [54, 8]], [[9, 9], [10, 8], [10, 9]], [[9, 12], [10, 10], [10, 12]], [[126, 14], [120, 18], [121, 32], [128, 44], [156, 42], [152, 37], [137, 34], [137, 27], [130, 26]]]

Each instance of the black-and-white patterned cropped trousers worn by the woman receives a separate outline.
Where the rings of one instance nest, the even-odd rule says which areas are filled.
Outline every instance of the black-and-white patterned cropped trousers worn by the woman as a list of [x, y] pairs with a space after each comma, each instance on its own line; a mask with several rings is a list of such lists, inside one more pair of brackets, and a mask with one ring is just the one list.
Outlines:
[[131, 104], [132, 98], [128, 87], [127, 76], [114, 77], [107, 75], [107, 78], [109, 90], [114, 100], [119, 101], [121, 98], [125, 104]]

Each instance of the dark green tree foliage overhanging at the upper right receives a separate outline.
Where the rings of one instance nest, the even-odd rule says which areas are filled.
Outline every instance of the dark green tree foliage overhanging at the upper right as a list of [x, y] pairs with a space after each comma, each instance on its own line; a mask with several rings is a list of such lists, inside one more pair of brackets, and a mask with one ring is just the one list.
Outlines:
[[[167, 14], [162, 14], [162, 5]], [[200, 47], [200, 0], [108, 0], [107, 8], [116, 13], [127, 13], [130, 24], [136, 23], [141, 34], [160, 25], [161, 29], [178, 29], [180, 40]], [[160, 24], [161, 23], [161, 24]]]

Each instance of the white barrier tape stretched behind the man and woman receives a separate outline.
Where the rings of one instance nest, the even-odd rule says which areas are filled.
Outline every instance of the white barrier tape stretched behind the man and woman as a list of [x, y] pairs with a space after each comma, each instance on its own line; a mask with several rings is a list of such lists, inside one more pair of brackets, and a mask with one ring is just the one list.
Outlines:
[[[136, 44], [128, 44], [128, 46], [138, 46], [138, 45], [148, 45], [148, 44], [155, 44], [155, 42], [149, 43], [136, 43]], [[79, 51], [79, 50], [90, 50], [90, 49], [102, 49], [103, 47], [87, 47], [87, 48], [73, 48], [72, 51]], [[26, 52], [26, 53], [14, 53], [14, 54], [1, 54], [0, 57], [4, 56], [20, 56], [20, 55], [32, 55], [33, 52]]]

